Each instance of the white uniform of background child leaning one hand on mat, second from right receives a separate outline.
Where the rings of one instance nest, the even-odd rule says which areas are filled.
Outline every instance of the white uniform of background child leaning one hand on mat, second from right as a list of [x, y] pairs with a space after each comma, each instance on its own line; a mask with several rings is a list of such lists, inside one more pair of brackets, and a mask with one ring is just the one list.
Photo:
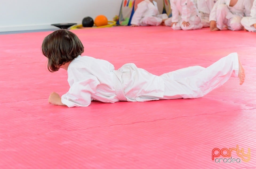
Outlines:
[[251, 1], [238, 0], [234, 6], [230, 6], [231, 0], [218, 0], [211, 10], [209, 20], [216, 21], [217, 28], [222, 30], [227, 27], [232, 31], [243, 29], [241, 19], [250, 16]]

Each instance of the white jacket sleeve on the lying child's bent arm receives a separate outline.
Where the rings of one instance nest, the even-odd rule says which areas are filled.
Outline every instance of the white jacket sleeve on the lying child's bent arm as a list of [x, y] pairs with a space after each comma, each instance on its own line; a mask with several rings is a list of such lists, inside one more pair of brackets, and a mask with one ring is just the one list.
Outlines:
[[98, 79], [91, 75], [83, 81], [75, 82], [69, 91], [62, 95], [61, 102], [68, 107], [86, 107], [91, 104], [91, 95], [96, 92], [100, 84]]

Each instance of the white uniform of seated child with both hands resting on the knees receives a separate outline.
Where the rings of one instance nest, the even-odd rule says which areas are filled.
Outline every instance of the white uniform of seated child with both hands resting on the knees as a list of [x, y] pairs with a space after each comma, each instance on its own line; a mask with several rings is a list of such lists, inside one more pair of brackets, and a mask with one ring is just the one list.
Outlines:
[[[192, 0], [170, 0], [172, 17], [165, 20], [166, 26], [171, 26], [174, 30], [193, 30], [201, 29], [203, 24], [201, 23], [201, 17]], [[183, 26], [182, 22], [189, 22], [189, 26]]]

